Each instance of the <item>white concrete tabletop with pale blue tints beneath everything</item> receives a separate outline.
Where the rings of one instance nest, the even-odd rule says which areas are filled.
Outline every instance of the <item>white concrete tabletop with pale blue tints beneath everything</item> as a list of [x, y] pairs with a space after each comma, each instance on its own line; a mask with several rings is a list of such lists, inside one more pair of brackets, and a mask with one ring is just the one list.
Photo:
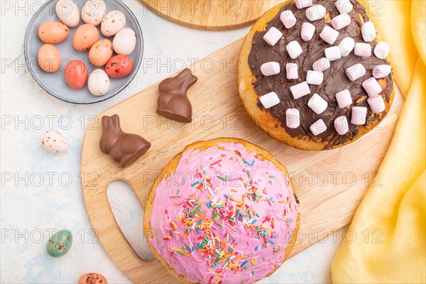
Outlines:
[[[8, 6], [6, 6], [5, 3]], [[42, 1], [43, 2], [43, 1]], [[75, 105], [51, 97], [25, 67], [23, 38], [38, 1], [1, 1], [1, 283], [77, 283], [82, 273], [98, 272], [109, 283], [131, 283], [98, 243], [87, 218], [80, 187], [80, 154], [89, 116], [243, 37], [246, 28], [200, 31], [166, 21], [135, 0], [144, 35], [145, 66], [129, 87], [107, 102]], [[9, 7], [11, 9], [9, 10]], [[6, 9], [7, 8], [7, 9]], [[33, 11], [35, 12], [35, 11]], [[155, 62], [153, 67], [146, 65]], [[173, 64], [175, 63], [175, 64]], [[177, 68], [174, 70], [173, 67]], [[64, 155], [43, 151], [40, 136], [53, 129], [70, 142]], [[149, 258], [142, 241], [142, 210], [126, 185], [111, 185], [111, 206], [139, 255]], [[45, 252], [49, 231], [67, 228], [72, 249], [62, 258]], [[328, 283], [342, 231], [290, 258], [262, 283]]]

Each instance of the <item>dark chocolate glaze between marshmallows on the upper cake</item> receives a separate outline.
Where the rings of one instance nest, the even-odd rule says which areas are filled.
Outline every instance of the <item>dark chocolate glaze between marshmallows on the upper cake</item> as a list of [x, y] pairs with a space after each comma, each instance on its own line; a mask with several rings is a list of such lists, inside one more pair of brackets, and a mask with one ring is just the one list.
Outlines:
[[[359, 126], [351, 124], [351, 107], [367, 107], [367, 119], [366, 126], [376, 119], [381, 120], [386, 115], [386, 111], [383, 111], [381, 114], [373, 114], [366, 99], [368, 95], [366, 94], [364, 88], [361, 86], [362, 82], [367, 80], [369, 77], [372, 77], [373, 67], [376, 65], [386, 64], [389, 65], [387, 60], [381, 60], [376, 58], [373, 53], [369, 58], [361, 58], [354, 55], [352, 51], [345, 58], [339, 60], [334, 60], [331, 62], [331, 67], [324, 71], [324, 81], [319, 86], [310, 84], [311, 94], [301, 97], [300, 99], [294, 99], [293, 95], [290, 92], [290, 87], [303, 82], [306, 80], [306, 74], [308, 70], [312, 70], [312, 63], [320, 58], [324, 58], [324, 49], [331, 46], [339, 45], [340, 41], [343, 38], [351, 37], [354, 38], [355, 43], [364, 43], [364, 40], [361, 35], [361, 18], [364, 18], [364, 22], [368, 21], [368, 16], [364, 7], [359, 4], [356, 0], [351, 0], [351, 3], [354, 6], [354, 9], [349, 13], [351, 16], [351, 24], [346, 28], [339, 30], [339, 37], [333, 45], [329, 45], [322, 38], [320, 38], [320, 33], [324, 26], [331, 26], [330, 23], [326, 23], [326, 15], [324, 18], [318, 21], [309, 21], [306, 17], [306, 9], [297, 9], [294, 1], [288, 4], [285, 4], [280, 10], [280, 13], [285, 10], [293, 11], [295, 17], [297, 18], [297, 23], [293, 28], [287, 29], [284, 27], [283, 23], [280, 21], [280, 13], [278, 13], [275, 18], [273, 18], [267, 25], [266, 31], [259, 31], [253, 36], [253, 42], [251, 45], [251, 52], [249, 54], [249, 66], [251, 72], [256, 77], [257, 81], [253, 83], [253, 87], [260, 97], [263, 94], [268, 94], [269, 92], [276, 92], [278, 97], [280, 97], [280, 104], [266, 111], [270, 112], [271, 115], [278, 119], [279, 125], [275, 127], [283, 127], [285, 131], [294, 138], [301, 139], [310, 139], [318, 141], [328, 141], [331, 138], [331, 141], [327, 144], [326, 148], [332, 148], [339, 144], [351, 141], [354, 137], [357, 136]], [[339, 15], [339, 11], [334, 6], [334, 1], [329, 0], [314, 0], [313, 4], [321, 4], [327, 9], [327, 14], [329, 14], [328, 22], [331, 18]], [[300, 31], [302, 29], [302, 24], [304, 22], [312, 23], [315, 26], [315, 34], [312, 40], [305, 42], [300, 36]], [[278, 41], [275, 46], [268, 45], [268, 43], [263, 40], [263, 35], [269, 30], [269, 28], [275, 27], [283, 32], [283, 38]], [[291, 59], [285, 49], [285, 46], [290, 43], [290, 41], [297, 40], [298, 43], [302, 46], [303, 53], [295, 60]], [[372, 48], [376, 46], [376, 42], [373, 40], [370, 42]], [[263, 76], [261, 72], [261, 65], [265, 62], [275, 61], [280, 63], [281, 72], [278, 75], [274, 76]], [[285, 75], [285, 64], [288, 62], [297, 63], [299, 78], [297, 80], [288, 80]], [[366, 68], [367, 72], [364, 77], [359, 78], [358, 80], [351, 82], [346, 76], [345, 70], [356, 63], [361, 63]], [[393, 87], [392, 77], [388, 75], [381, 80], [386, 80], [386, 88], [383, 88], [381, 95], [385, 101], [389, 102], [391, 99], [391, 92]], [[379, 83], [381, 80], [378, 80]], [[351, 92], [351, 97], [353, 103], [351, 106], [344, 109], [340, 109], [337, 105], [335, 94], [342, 91], [343, 89], [349, 89]], [[307, 106], [307, 101], [312, 97], [312, 94], [319, 94], [328, 102], [327, 109], [322, 114], [316, 114], [310, 107]], [[260, 101], [258, 101], [258, 107], [264, 109]], [[289, 108], [295, 108], [300, 111], [300, 126], [297, 129], [289, 129], [285, 125], [285, 111]], [[338, 116], [346, 116], [349, 121], [349, 131], [345, 135], [340, 136], [334, 129], [334, 119]], [[321, 133], [319, 136], [313, 136], [310, 132], [310, 126], [318, 119], [322, 119], [327, 125], [327, 131]]]

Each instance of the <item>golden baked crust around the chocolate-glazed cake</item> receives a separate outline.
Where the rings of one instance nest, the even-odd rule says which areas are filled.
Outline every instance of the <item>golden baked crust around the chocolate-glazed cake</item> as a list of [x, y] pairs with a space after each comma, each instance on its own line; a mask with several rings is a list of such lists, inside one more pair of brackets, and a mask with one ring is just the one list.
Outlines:
[[[312, 139], [307, 136], [304, 137], [296, 137], [293, 138], [290, 136], [284, 127], [280, 126], [280, 121], [278, 119], [275, 119], [271, 113], [268, 111], [265, 111], [264, 109], [260, 109], [257, 107], [258, 103], [258, 94], [256, 94], [256, 91], [253, 87], [253, 83], [256, 82], [256, 77], [251, 72], [250, 66], [249, 66], [249, 54], [251, 53], [251, 45], [253, 41], [253, 36], [258, 31], [265, 31], [266, 26], [268, 23], [277, 16], [277, 14], [280, 12], [280, 9], [285, 6], [285, 4], [288, 4], [291, 1], [284, 1], [282, 4], [279, 4], [278, 6], [275, 6], [273, 9], [267, 11], [266, 13], [261, 16], [261, 18], [256, 21], [256, 23], [253, 25], [253, 27], [250, 29], [249, 34], [246, 35], [246, 38], [244, 40], [244, 43], [241, 47], [241, 52], [239, 55], [239, 62], [238, 62], [238, 72], [237, 72], [237, 80], [239, 84], [239, 94], [241, 97], [241, 100], [243, 102], [244, 108], [246, 111], [250, 114], [253, 121], [266, 133], [268, 133], [269, 136], [272, 138], [275, 138], [275, 140], [278, 140], [280, 142], [283, 142], [289, 146], [292, 146], [294, 148], [299, 148], [301, 150], [324, 150], [324, 149], [332, 149], [332, 148], [339, 148], [346, 144], [352, 143], [356, 141], [357, 139], [364, 136], [364, 134], [368, 133], [376, 127], [381, 120], [388, 114], [389, 110], [391, 109], [391, 105], [393, 102], [393, 97], [395, 95], [395, 88], [392, 89], [389, 102], [384, 100], [386, 109], [381, 113], [380, 119], [376, 118], [373, 121], [371, 121], [369, 124], [359, 126], [358, 134], [351, 140], [346, 141], [345, 143], [340, 143], [336, 146], [329, 146], [329, 142], [332, 141], [332, 138], [334, 137], [329, 136], [327, 139], [320, 140], [320, 139]], [[328, 12], [325, 16], [326, 22], [329, 23], [331, 21], [331, 17], [329, 16]], [[361, 21], [364, 21], [364, 18], [361, 16]], [[360, 32], [361, 33], [361, 32]], [[381, 35], [377, 33], [376, 35], [376, 42], [381, 41]], [[393, 80], [394, 81], [394, 80]], [[381, 85], [382, 88], [386, 87], [387, 80], [386, 78], [378, 79], [378, 83]], [[278, 126], [278, 127], [277, 127]]]

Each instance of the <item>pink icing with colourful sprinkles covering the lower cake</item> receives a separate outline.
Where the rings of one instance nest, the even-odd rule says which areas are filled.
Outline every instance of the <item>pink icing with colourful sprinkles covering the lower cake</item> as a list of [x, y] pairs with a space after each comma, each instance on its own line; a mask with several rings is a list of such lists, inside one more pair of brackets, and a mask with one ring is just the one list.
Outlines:
[[148, 241], [187, 281], [252, 283], [283, 262], [298, 212], [288, 177], [273, 163], [241, 143], [218, 143], [183, 153], [160, 182]]

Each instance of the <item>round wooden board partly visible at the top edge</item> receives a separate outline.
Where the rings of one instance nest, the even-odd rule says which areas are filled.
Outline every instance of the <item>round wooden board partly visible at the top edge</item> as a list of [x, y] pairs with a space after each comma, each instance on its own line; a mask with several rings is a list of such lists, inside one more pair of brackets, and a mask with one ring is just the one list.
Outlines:
[[226, 30], [246, 26], [279, 0], [141, 0], [159, 16], [192, 28]]

